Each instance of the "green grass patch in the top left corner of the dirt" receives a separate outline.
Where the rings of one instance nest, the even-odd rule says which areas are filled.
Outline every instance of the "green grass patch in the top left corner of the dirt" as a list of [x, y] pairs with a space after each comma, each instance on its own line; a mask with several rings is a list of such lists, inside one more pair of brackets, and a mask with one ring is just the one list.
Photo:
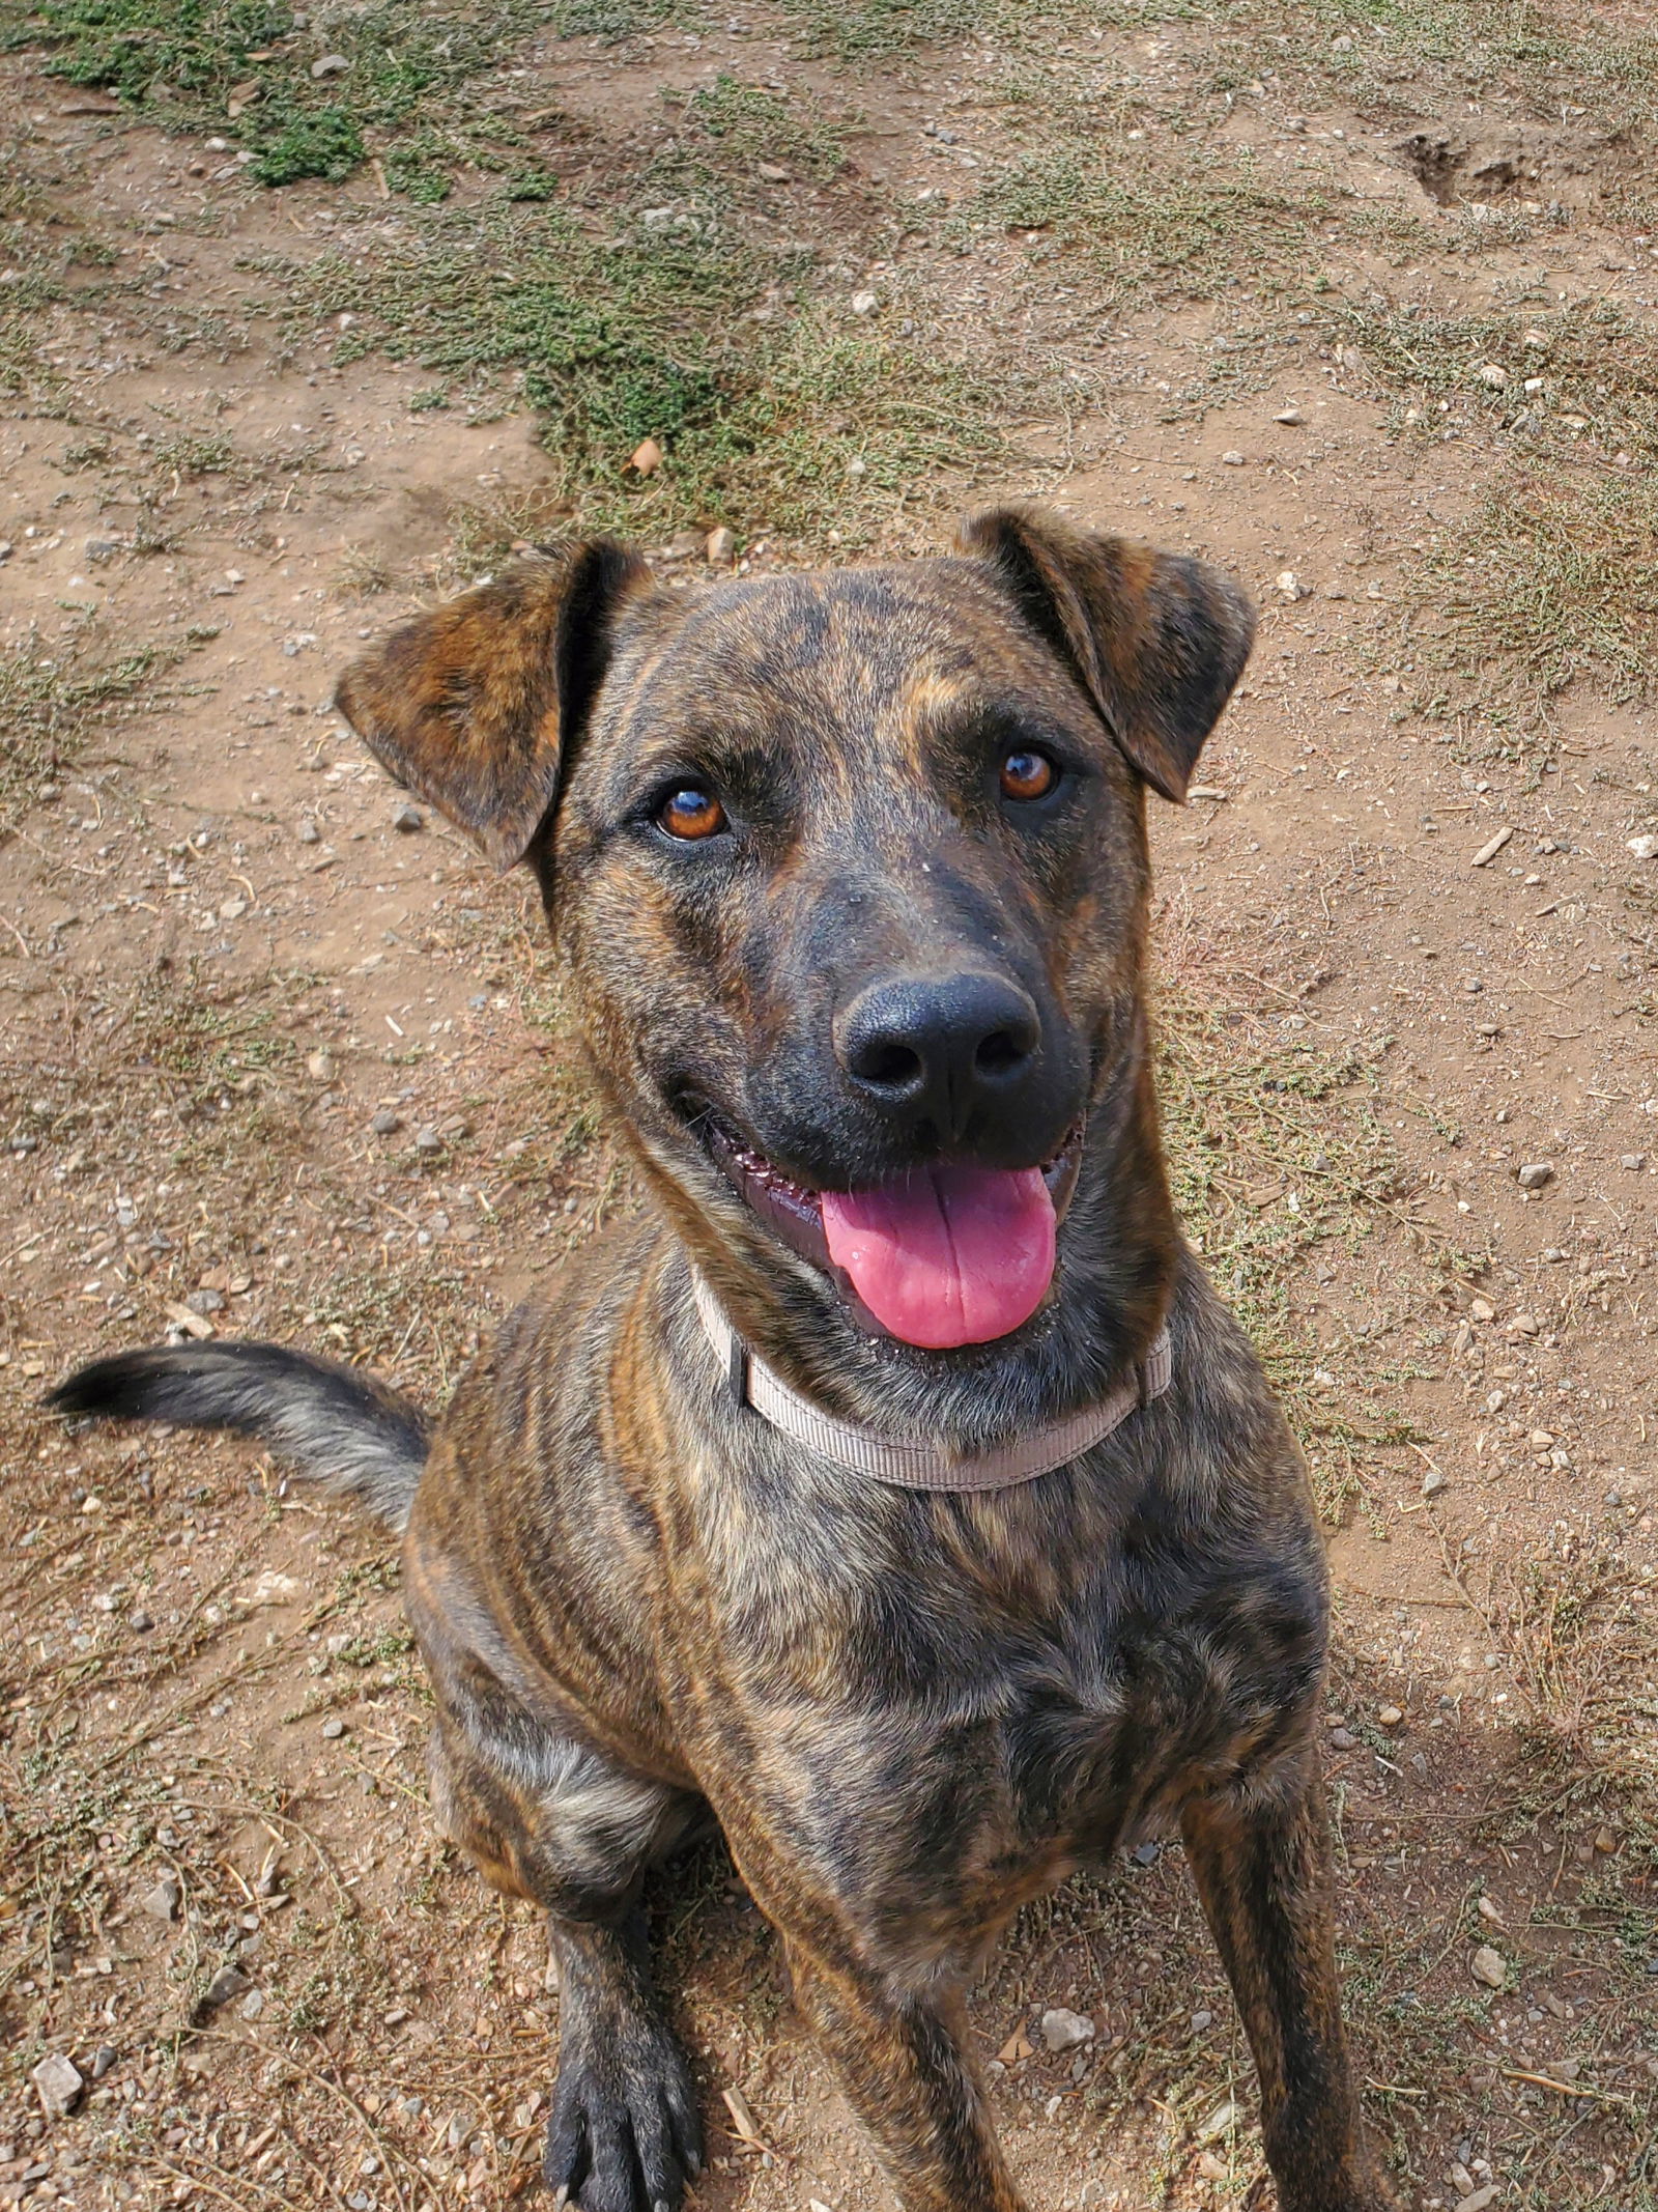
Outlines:
[[537, 0], [40, 0], [11, 33], [46, 71], [111, 91], [172, 131], [217, 131], [283, 186], [338, 181], [371, 153], [393, 188], [436, 197], [462, 164], [497, 166], [511, 124], [471, 97], [546, 22]]

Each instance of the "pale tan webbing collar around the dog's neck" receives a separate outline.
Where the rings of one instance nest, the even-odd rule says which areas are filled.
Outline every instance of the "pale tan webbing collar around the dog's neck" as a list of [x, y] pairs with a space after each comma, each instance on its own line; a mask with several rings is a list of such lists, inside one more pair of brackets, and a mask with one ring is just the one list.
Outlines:
[[1161, 1398], [1172, 1376], [1169, 1332], [1158, 1329], [1141, 1365], [1096, 1405], [1046, 1429], [1032, 1429], [995, 1451], [951, 1453], [940, 1444], [880, 1436], [875, 1429], [825, 1413], [767, 1367], [758, 1352], [749, 1352], [696, 1267], [692, 1267], [692, 1290], [714, 1358], [738, 1407], [769, 1420], [818, 1458], [904, 1491], [1004, 1491], [1017, 1482], [1035, 1482], [1037, 1475], [1052, 1473], [1054, 1467], [1066, 1467], [1094, 1444], [1103, 1444], [1130, 1413]]

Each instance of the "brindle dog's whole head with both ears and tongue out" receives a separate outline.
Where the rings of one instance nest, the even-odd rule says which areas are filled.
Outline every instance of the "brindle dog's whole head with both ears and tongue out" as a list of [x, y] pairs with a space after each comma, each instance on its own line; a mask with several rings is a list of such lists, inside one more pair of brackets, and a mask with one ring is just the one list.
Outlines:
[[794, 1356], [760, 1340], [796, 1371], [856, 1347], [937, 1383], [1017, 1363], [1101, 1287], [1134, 1177], [1163, 1188], [1145, 785], [1185, 796], [1249, 637], [1198, 562], [1004, 509], [944, 560], [690, 591], [606, 542], [526, 562], [358, 661], [340, 708], [535, 867], [599, 1075], [738, 1325], [791, 1316]]

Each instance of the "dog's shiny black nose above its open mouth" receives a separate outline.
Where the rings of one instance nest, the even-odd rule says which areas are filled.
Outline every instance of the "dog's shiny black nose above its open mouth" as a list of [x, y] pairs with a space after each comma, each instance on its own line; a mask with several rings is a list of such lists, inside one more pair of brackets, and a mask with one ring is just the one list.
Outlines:
[[966, 1137], [988, 1106], [1010, 1102], [1035, 1066], [1041, 1020], [1006, 975], [889, 975], [836, 1020], [851, 1082], [911, 1130]]

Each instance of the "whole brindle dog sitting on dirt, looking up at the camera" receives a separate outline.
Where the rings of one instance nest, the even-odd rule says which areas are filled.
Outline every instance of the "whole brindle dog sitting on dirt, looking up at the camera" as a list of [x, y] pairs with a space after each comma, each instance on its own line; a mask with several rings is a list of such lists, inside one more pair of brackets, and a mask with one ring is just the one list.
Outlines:
[[[1008, 509], [942, 560], [694, 591], [586, 544], [345, 677], [391, 774], [535, 869], [650, 1206], [431, 1436], [254, 1345], [99, 1360], [55, 1402], [252, 1431], [407, 1524], [438, 1814], [550, 1918], [562, 2201], [663, 2212], [699, 2170], [639, 1889], [712, 1809], [906, 2212], [1017, 2212], [964, 1982], [1026, 1898], [1165, 1823], [1280, 2205], [1391, 2203], [1335, 1984], [1320, 1535], [1152, 1093], [1145, 787], [1183, 799], [1249, 639], [1196, 562]], [[904, 1245], [915, 1190], [959, 1250], [847, 1243], [895, 1206]], [[694, 1270], [882, 1436], [1026, 1438], [1165, 1323], [1172, 1385], [1035, 1480], [920, 1493], [741, 1402]]]

